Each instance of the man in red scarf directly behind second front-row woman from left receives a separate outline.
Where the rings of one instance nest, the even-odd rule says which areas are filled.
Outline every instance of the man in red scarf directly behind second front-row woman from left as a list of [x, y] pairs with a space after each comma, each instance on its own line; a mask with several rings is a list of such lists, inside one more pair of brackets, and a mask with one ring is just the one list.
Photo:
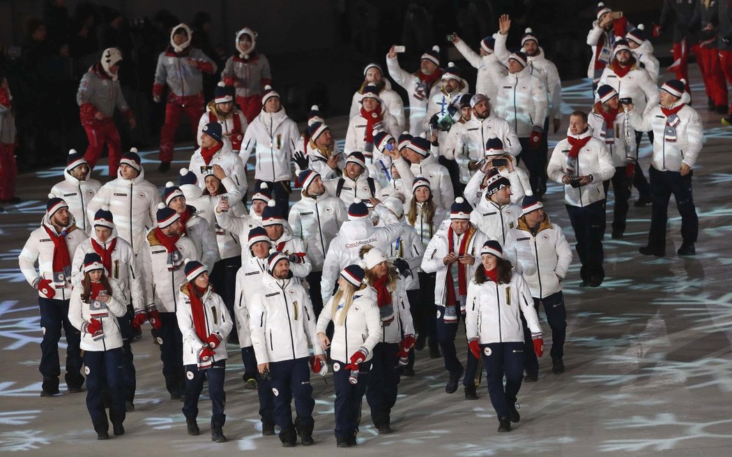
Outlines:
[[183, 340], [176, 319], [180, 286], [185, 282], [184, 259], [200, 256], [193, 241], [181, 234], [180, 215], [160, 203], [157, 227], [145, 237], [140, 250], [145, 283], [146, 310], [150, 324], [157, 331], [160, 360], [163, 361], [165, 387], [171, 400], [185, 393]]

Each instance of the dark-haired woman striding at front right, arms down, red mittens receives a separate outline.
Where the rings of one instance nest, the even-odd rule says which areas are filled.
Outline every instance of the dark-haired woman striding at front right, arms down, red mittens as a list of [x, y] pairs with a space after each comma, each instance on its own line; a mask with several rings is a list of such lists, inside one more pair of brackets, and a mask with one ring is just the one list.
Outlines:
[[529, 285], [504, 259], [501, 243], [485, 242], [480, 257], [481, 264], [468, 284], [466, 336], [473, 355], [482, 357], [498, 431], [511, 431], [511, 423], [520, 420], [515, 403], [523, 379], [523, 354], [532, 349], [524, 344], [522, 314], [539, 357], [544, 354], [544, 339]]

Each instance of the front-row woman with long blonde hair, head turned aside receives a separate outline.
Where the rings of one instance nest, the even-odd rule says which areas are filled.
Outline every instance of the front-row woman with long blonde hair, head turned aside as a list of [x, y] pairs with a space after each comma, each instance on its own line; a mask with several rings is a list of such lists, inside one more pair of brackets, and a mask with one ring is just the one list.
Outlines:
[[[372, 352], [381, 341], [381, 320], [376, 297], [365, 293], [367, 285], [363, 282], [364, 275], [364, 270], [358, 265], [348, 265], [341, 270], [338, 291], [324, 306], [315, 327], [318, 341], [323, 350], [330, 348], [333, 360], [337, 447], [356, 445], [359, 413]], [[326, 336], [330, 322], [333, 322], [335, 329], [332, 341]]]

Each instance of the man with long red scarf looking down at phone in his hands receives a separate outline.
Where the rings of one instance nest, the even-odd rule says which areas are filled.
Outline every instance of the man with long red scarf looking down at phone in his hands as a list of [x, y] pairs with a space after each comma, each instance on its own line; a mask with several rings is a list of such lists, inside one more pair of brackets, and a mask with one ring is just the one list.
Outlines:
[[[422, 259], [422, 270], [426, 273], [437, 272], [435, 281], [435, 305], [437, 306], [437, 339], [442, 349], [445, 369], [449, 380], [445, 392], [458, 390], [463, 364], [455, 349], [455, 336], [458, 334], [460, 316], [465, 316], [468, 283], [473, 278], [475, 267], [480, 264], [480, 249], [488, 240], [485, 234], [470, 222], [473, 208], [462, 197], [455, 198], [450, 207], [449, 226], [441, 228], [430, 239]], [[475, 379], [478, 360], [468, 351], [468, 371], [463, 386], [466, 398], [475, 393]]]

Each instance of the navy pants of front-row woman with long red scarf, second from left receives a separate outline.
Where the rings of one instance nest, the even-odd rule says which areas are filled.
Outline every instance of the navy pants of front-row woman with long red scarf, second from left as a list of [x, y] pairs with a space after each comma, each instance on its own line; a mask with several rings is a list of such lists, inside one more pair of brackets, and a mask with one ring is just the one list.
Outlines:
[[221, 428], [226, 422], [224, 406], [226, 393], [224, 392], [224, 377], [226, 374], [226, 360], [219, 360], [211, 368], [198, 369], [198, 365], [185, 365], [185, 399], [183, 415], [186, 419], [198, 417], [198, 397], [203, 390], [203, 380], [209, 382], [209, 398], [211, 398], [211, 428]]

